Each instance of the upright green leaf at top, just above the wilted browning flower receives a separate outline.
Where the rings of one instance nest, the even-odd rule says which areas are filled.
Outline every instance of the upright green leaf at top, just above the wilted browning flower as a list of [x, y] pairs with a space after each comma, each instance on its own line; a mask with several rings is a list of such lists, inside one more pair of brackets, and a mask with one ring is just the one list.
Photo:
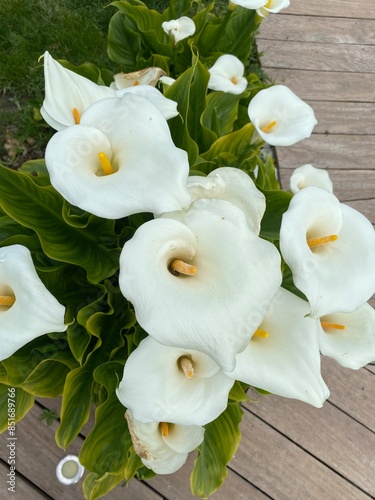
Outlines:
[[119, 64], [125, 73], [137, 69], [137, 59], [141, 51], [141, 38], [126, 25], [121, 12], [112, 16], [108, 28], [108, 56]]

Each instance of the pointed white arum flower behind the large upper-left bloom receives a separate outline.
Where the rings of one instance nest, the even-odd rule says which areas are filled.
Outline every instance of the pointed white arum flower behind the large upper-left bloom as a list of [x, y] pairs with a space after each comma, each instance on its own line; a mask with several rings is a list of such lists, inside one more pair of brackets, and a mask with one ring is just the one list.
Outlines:
[[40, 110], [45, 121], [55, 130], [74, 125], [73, 109], [79, 115], [94, 102], [114, 97], [114, 90], [97, 85], [74, 71], [64, 68], [48, 53], [44, 53], [45, 99]]

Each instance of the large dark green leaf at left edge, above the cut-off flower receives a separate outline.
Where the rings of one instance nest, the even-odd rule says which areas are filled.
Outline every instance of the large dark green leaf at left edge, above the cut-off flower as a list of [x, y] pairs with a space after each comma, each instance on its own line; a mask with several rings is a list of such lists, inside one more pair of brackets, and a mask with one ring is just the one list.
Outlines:
[[85, 228], [62, 218], [63, 199], [51, 186], [41, 187], [31, 176], [0, 167], [0, 206], [19, 224], [33, 229], [45, 254], [57, 261], [82, 266], [98, 283], [118, 269], [120, 250], [106, 248], [112, 221], [90, 217]]

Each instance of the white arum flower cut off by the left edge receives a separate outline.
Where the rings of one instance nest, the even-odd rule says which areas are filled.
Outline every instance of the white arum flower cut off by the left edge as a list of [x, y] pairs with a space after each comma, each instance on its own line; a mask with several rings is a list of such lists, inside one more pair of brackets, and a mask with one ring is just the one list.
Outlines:
[[47, 290], [22, 245], [0, 248], [0, 360], [41, 335], [66, 330], [65, 308]]

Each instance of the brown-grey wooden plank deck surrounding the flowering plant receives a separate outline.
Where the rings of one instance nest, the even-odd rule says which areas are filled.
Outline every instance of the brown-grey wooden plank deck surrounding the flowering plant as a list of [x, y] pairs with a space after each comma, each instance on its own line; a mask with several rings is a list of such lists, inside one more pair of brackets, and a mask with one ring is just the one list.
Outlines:
[[[375, 2], [292, 0], [262, 25], [263, 67], [311, 104], [312, 138], [278, 148], [284, 188], [295, 167], [329, 170], [335, 194], [375, 224]], [[375, 305], [375, 301], [372, 301]], [[215, 500], [365, 500], [375, 498], [375, 366], [343, 369], [323, 359], [331, 396], [322, 409], [276, 396], [244, 406], [242, 442]], [[6, 491], [6, 441], [0, 437], [0, 498], [80, 500], [81, 485], [55, 479], [66, 453], [54, 430], [38, 421], [40, 400], [17, 425], [17, 493]], [[68, 449], [77, 452], [79, 437]], [[106, 498], [189, 500], [194, 456], [176, 474], [133, 481]]]

